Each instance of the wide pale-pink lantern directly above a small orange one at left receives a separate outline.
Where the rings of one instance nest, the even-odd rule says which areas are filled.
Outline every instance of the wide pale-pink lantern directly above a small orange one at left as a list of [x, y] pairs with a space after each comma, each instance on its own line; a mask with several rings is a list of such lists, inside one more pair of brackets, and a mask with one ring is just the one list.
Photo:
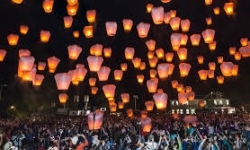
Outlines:
[[68, 90], [72, 76], [68, 73], [57, 73], [55, 76], [57, 90]]

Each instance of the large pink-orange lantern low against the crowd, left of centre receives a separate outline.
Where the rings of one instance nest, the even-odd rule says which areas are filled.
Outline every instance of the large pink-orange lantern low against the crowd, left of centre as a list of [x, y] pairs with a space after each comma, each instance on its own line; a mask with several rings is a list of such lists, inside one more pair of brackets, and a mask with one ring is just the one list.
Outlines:
[[99, 130], [102, 127], [103, 112], [96, 110], [88, 115], [88, 127], [89, 130]]

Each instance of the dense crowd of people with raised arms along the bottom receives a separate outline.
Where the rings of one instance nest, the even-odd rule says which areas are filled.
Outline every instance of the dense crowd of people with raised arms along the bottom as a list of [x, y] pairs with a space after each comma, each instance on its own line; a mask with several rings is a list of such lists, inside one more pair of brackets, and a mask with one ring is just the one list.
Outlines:
[[144, 132], [140, 117], [105, 115], [101, 129], [89, 130], [87, 117], [0, 119], [3, 150], [250, 150], [248, 114], [148, 114], [152, 129]]

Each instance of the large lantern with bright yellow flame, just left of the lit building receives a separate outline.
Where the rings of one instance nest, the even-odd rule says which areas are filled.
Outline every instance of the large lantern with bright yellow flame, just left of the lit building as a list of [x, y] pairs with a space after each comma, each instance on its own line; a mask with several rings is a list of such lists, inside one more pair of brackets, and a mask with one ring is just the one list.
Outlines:
[[155, 93], [153, 95], [156, 108], [158, 110], [165, 110], [168, 102], [168, 95], [166, 93]]

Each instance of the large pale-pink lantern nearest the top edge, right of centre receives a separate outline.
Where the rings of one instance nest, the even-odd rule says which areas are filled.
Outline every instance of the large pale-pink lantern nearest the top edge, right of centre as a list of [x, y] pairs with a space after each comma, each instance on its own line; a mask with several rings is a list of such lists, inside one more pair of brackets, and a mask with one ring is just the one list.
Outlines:
[[153, 7], [151, 11], [151, 16], [154, 24], [156, 25], [162, 24], [164, 20], [164, 8], [162, 6]]

